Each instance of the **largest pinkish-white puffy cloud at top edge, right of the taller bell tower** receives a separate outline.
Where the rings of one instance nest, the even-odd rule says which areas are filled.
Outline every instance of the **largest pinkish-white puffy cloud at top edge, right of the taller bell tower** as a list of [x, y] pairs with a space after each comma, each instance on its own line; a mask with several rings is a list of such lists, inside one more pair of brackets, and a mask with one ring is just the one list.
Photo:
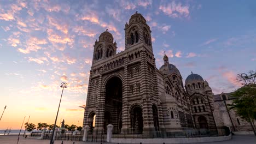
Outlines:
[[181, 2], [172, 1], [171, 3], [161, 3], [159, 10], [170, 17], [188, 17], [189, 5], [182, 5]]

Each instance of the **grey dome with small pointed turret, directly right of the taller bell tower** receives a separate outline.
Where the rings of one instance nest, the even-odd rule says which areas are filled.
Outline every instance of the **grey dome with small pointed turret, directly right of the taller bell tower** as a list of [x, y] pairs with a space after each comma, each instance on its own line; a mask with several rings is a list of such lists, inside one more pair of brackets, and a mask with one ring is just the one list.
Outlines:
[[164, 56], [163, 59], [164, 59], [165, 64], [162, 65], [162, 67], [160, 68], [160, 71], [162, 71], [162, 73], [167, 74], [167, 75], [170, 75], [172, 73], [181, 75], [181, 73], [179, 73], [179, 70], [176, 68], [176, 66], [173, 64], [170, 64], [168, 62], [168, 57], [166, 55]]

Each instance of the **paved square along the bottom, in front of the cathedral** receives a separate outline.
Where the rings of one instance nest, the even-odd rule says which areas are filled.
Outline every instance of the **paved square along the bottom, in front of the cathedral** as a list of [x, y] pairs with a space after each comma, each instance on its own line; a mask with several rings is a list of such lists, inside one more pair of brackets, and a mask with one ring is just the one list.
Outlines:
[[[16, 144], [18, 140], [18, 136], [0, 136], [1, 144]], [[61, 144], [61, 140], [54, 141], [54, 144]], [[63, 144], [100, 144], [100, 142], [82, 142], [82, 141], [63, 141]], [[50, 140], [35, 140], [35, 139], [25, 139], [24, 137], [20, 137], [19, 144], [49, 144]], [[256, 136], [253, 135], [235, 135], [232, 136], [231, 140], [228, 141], [220, 141], [220, 142], [206, 142], [200, 144], [256, 144]]]

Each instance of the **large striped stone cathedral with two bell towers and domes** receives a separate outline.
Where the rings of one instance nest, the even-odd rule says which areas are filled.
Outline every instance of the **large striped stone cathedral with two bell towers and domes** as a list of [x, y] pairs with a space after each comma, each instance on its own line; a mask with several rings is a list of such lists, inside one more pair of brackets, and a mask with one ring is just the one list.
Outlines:
[[[133, 14], [125, 24], [125, 50], [108, 31], [94, 44], [83, 125], [106, 131], [161, 128], [216, 128], [215, 96], [206, 80], [191, 73], [183, 84], [164, 55], [156, 68], [150, 27]], [[220, 120], [221, 121], [221, 120]], [[219, 123], [219, 122], [218, 122]]]

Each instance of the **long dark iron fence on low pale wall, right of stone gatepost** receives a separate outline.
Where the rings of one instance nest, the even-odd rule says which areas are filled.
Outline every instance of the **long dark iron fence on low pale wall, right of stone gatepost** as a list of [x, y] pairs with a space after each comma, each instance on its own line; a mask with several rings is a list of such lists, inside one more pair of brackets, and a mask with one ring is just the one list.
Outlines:
[[158, 128], [158, 129], [123, 129], [121, 132], [113, 131], [112, 138], [130, 139], [154, 139], [154, 138], [182, 138], [182, 137], [209, 137], [228, 136], [228, 127], [218, 127], [214, 129], [194, 129], [194, 128]]

